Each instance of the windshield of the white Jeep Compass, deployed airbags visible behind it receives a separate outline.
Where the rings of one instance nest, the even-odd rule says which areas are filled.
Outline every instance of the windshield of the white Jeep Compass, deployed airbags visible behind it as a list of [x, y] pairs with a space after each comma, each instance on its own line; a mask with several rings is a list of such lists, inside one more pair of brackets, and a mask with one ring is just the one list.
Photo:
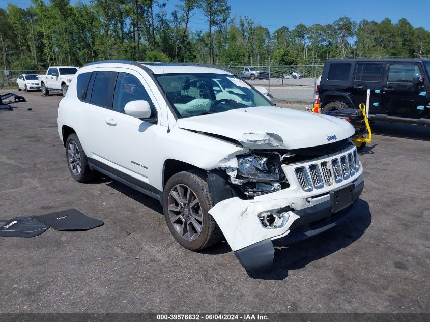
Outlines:
[[182, 118], [271, 104], [261, 93], [230, 74], [164, 74], [155, 77]]

